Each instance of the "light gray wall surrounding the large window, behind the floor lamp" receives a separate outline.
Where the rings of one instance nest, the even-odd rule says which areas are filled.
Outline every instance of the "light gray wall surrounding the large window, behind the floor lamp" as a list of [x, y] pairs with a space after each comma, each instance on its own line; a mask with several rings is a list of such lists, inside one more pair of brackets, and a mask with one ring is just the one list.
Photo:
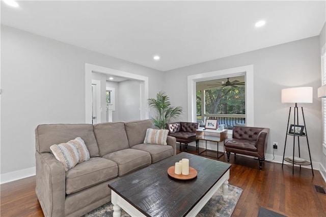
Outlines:
[[[273, 153], [271, 142], [278, 142], [276, 155], [283, 156], [289, 106], [281, 103], [281, 90], [288, 87], [313, 87], [313, 103], [304, 106], [309, 144], [313, 161], [320, 162], [321, 104], [317, 98], [320, 86], [319, 37], [307, 38], [227, 58], [171, 70], [165, 73], [165, 90], [173, 105], [182, 105], [182, 119], [187, 121], [187, 76], [204, 72], [254, 65], [255, 126], [270, 128], [267, 153]], [[183, 90], [183, 91], [181, 91]], [[290, 138], [291, 141], [292, 138]], [[289, 143], [290, 144], [290, 143]], [[287, 155], [292, 151], [287, 145]], [[307, 143], [301, 143], [302, 157], [309, 159]]]

